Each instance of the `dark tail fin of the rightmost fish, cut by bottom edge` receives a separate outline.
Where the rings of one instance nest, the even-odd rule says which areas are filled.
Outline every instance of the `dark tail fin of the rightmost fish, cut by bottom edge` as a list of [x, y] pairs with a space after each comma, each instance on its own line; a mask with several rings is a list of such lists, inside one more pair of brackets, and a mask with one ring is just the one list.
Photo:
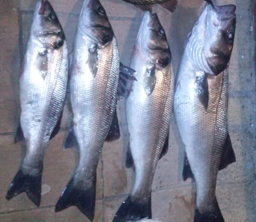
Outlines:
[[218, 206], [217, 199], [215, 200], [214, 208], [211, 211], [200, 213], [198, 208], [196, 208], [194, 222], [225, 222]]

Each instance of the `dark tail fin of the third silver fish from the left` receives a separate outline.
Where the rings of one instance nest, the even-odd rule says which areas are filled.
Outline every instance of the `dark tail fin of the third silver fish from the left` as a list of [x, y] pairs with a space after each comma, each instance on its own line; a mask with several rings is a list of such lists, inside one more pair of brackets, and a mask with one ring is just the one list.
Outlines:
[[129, 195], [117, 210], [113, 222], [134, 221], [143, 218], [152, 218], [151, 194], [142, 199], [137, 199]]

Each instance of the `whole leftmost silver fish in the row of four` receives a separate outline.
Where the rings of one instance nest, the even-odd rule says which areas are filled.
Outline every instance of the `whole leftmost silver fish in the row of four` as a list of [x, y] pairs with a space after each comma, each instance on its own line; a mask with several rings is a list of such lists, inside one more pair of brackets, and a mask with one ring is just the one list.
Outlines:
[[25, 141], [26, 155], [7, 199], [26, 192], [40, 205], [44, 153], [60, 127], [67, 76], [64, 32], [50, 3], [42, 0], [35, 9], [20, 76], [21, 115], [15, 141]]

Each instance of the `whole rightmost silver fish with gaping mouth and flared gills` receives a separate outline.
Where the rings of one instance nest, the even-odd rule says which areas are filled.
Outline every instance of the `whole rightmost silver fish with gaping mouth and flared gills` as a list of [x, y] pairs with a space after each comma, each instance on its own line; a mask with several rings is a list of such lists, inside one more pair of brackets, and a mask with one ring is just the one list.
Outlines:
[[195, 179], [194, 222], [224, 222], [218, 170], [236, 161], [227, 127], [228, 63], [236, 6], [206, 4], [186, 41], [175, 80], [174, 113], [186, 147], [183, 179]]

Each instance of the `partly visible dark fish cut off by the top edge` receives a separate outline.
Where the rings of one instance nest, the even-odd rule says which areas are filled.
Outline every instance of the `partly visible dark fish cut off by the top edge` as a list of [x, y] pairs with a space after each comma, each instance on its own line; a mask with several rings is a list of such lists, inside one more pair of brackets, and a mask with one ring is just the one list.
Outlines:
[[123, 0], [127, 3], [134, 4], [143, 11], [151, 11], [154, 4], [160, 4], [170, 12], [175, 12], [177, 0]]

